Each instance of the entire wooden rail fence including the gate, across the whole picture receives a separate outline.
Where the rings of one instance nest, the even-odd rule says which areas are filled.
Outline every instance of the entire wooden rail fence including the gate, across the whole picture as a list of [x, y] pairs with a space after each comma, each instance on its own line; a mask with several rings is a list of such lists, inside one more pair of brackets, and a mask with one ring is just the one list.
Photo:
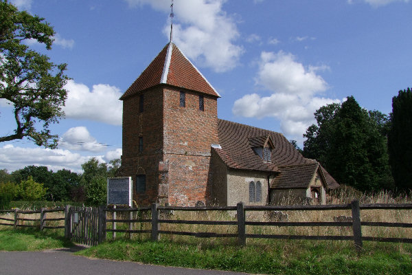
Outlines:
[[[159, 240], [161, 234], [172, 235], [186, 235], [196, 237], [229, 237], [237, 238], [240, 245], [246, 245], [247, 239], [306, 239], [306, 240], [347, 240], [354, 241], [356, 248], [359, 250], [363, 247], [363, 241], [380, 241], [380, 242], [401, 242], [412, 243], [412, 236], [407, 238], [397, 237], [375, 237], [375, 236], [363, 236], [362, 227], [385, 227], [385, 228], [412, 228], [412, 223], [394, 223], [394, 222], [374, 222], [374, 221], [361, 221], [361, 210], [412, 210], [412, 203], [402, 204], [359, 204], [359, 201], [352, 201], [352, 203], [339, 204], [339, 205], [317, 205], [317, 206], [244, 206], [244, 203], [238, 203], [237, 206], [228, 207], [178, 207], [178, 206], [159, 206], [154, 203], [150, 207], [142, 208], [94, 208], [84, 212], [80, 208], [73, 208], [66, 206], [66, 208], [56, 208], [53, 210], [42, 209], [39, 211], [22, 211], [22, 210], [0, 210], [0, 212], [14, 212], [14, 219], [1, 218], [0, 220], [10, 221], [12, 223], [0, 223], [0, 225], [10, 225], [17, 227], [25, 226], [37, 226], [37, 225], [24, 225], [18, 221], [39, 221], [40, 229], [45, 228], [65, 228], [65, 236], [73, 238], [75, 242], [86, 242], [89, 245], [95, 245], [101, 243], [106, 239], [106, 233], [112, 232], [113, 239], [116, 232], [127, 233], [129, 237], [132, 234], [150, 234], [153, 241]], [[249, 211], [325, 211], [325, 210], [351, 210], [352, 221], [249, 221], [247, 219], [247, 212]], [[47, 219], [47, 212], [65, 211], [65, 218]], [[80, 213], [84, 214], [80, 214]], [[180, 219], [165, 219], [164, 213], [170, 213], [172, 211], [232, 211], [236, 212], [236, 220], [231, 221], [197, 221], [197, 220], [180, 220]], [[78, 218], [85, 217], [85, 222], [73, 226], [74, 217], [73, 214], [77, 212]], [[91, 214], [93, 212], [93, 215]], [[107, 219], [107, 212], [112, 212], [111, 219]], [[135, 217], [133, 213], [147, 213], [146, 218]], [[40, 219], [25, 219], [19, 217], [19, 214], [33, 214], [41, 213]], [[89, 214], [87, 214], [89, 213]], [[122, 213], [122, 214], [119, 214]], [[149, 219], [150, 213], [150, 219]], [[161, 214], [163, 213], [163, 215]], [[128, 217], [128, 219], [117, 219], [116, 214], [119, 216]], [[87, 218], [89, 217], [89, 218]], [[162, 218], [163, 217], [163, 218]], [[169, 217], [172, 217], [169, 215]], [[46, 221], [61, 221], [65, 220], [65, 226], [46, 226]], [[112, 223], [111, 228], [107, 228], [106, 223]], [[117, 229], [116, 223], [128, 223], [128, 229]], [[146, 230], [135, 230], [135, 223], [148, 223]], [[188, 224], [188, 225], [235, 225], [236, 233], [221, 233], [221, 232], [189, 232], [189, 231], [174, 231], [174, 230], [162, 230], [162, 223], [170, 224]], [[275, 226], [275, 227], [347, 227], [352, 228], [352, 235], [314, 235], [308, 236], [305, 234], [251, 234], [247, 233], [247, 226]], [[77, 231], [76, 231], [77, 230]], [[249, 230], [250, 231], [250, 230]], [[82, 232], [76, 234], [76, 232]], [[85, 237], [87, 236], [87, 237]], [[77, 238], [77, 239], [76, 239]], [[84, 241], [86, 239], [86, 241]], [[90, 241], [89, 241], [90, 240]]]

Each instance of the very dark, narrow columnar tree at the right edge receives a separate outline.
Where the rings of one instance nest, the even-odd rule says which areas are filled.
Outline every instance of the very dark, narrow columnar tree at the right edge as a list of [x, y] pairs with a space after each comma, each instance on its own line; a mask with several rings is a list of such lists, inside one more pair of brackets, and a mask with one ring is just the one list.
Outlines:
[[412, 91], [400, 90], [392, 98], [391, 129], [388, 135], [389, 162], [395, 185], [412, 189]]

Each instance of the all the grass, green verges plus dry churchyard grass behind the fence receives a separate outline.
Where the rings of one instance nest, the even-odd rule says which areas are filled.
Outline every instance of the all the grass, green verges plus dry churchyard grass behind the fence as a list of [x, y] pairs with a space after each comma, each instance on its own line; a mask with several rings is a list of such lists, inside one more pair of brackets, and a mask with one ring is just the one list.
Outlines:
[[[351, 191], [351, 190], [349, 190]], [[348, 203], [355, 197], [361, 203], [411, 203], [411, 195], [393, 197], [390, 193], [376, 195], [351, 194], [341, 190], [330, 203]], [[352, 192], [352, 191], [351, 191]], [[284, 203], [288, 204], [288, 203]], [[350, 210], [284, 211], [288, 221], [333, 221], [334, 217], [350, 216]], [[10, 214], [4, 214], [8, 217]], [[61, 213], [50, 213], [49, 218]], [[258, 212], [248, 212], [247, 220], [268, 219]], [[11, 217], [11, 216], [10, 216]], [[37, 218], [38, 214], [28, 214]], [[108, 214], [108, 219], [111, 214]], [[135, 213], [139, 219], [150, 219], [150, 212]], [[119, 214], [117, 219], [129, 219]], [[225, 211], [185, 212], [174, 211], [165, 219], [234, 221], [234, 213]], [[412, 210], [361, 210], [362, 221], [388, 221], [410, 223]], [[26, 223], [26, 222], [25, 222]], [[28, 221], [27, 223], [30, 223]], [[54, 222], [50, 222], [53, 224]], [[34, 223], [35, 224], [35, 223]], [[58, 223], [56, 223], [58, 225]], [[107, 223], [107, 228], [112, 224]], [[1, 226], [0, 226], [1, 228]], [[5, 228], [5, 227], [4, 227]], [[128, 229], [128, 223], [117, 223], [118, 229]], [[135, 230], [149, 230], [150, 223], [134, 223]], [[161, 230], [190, 232], [236, 233], [236, 225], [183, 225], [161, 224]], [[382, 228], [363, 226], [363, 236], [411, 238], [412, 228]], [[350, 227], [276, 227], [247, 226], [251, 234], [299, 235], [352, 235]], [[0, 250], [42, 250], [67, 247], [58, 230], [1, 230]], [[236, 239], [201, 239], [191, 236], [161, 235], [161, 241], [150, 241], [150, 234], [117, 233], [111, 241], [78, 252], [80, 255], [120, 261], [137, 261], [157, 265], [170, 265], [214, 270], [231, 270], [255, 274], [410, 274], [412, 275], [412, 244], [363, 242], [363, 250], [356, 253], [353, 241], [295, 241], [248, 239], [240, 247]]]

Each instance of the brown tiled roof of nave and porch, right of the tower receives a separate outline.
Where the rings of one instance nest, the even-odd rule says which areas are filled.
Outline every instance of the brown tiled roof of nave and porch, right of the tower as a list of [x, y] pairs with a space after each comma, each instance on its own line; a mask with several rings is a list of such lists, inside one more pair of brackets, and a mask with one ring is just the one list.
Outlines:
[[[271, 184], [273, 188], [308, 188], [319, 166], [316, 160], [301, 155], [282, 133], [219, 119], [218, 137], [222, 148], [213, 150], [229, 168], [278, 172], [279, 175]], [[274, 148], [271, 162], [264, 162], [252, 148], [263, 146], [268, 137]], [[321, 172], [329, 188], [339, 186], [323, 167]]]

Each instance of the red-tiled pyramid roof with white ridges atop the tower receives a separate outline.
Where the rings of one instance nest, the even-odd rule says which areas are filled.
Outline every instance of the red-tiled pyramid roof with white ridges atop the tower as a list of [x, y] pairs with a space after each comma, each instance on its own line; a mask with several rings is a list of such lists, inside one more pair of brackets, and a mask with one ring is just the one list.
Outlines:
[[148, 65], [143, 73], [126, 90], [120, 98], [148, 89], [155, 85], [168, 84], [199, 91], [210, 96], [220, 97], [218, 92], [210, 85], [206, 78], [190, 62], [188, 58], [173, 43], [165, 45], [163, 50]]

